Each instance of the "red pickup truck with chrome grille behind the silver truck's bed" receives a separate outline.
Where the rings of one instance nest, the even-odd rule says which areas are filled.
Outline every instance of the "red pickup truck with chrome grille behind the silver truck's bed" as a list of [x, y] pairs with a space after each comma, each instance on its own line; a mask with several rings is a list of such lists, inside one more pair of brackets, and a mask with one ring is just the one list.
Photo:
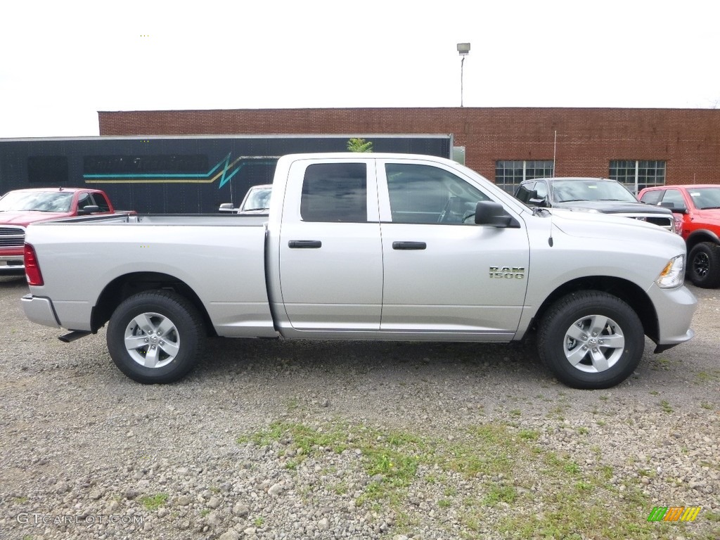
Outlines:
[[22, 275], [25, 229], [30, 223], [87, 214], [115, 213], [99, 189], [16, 189], [0, 197], [0, 275]]

